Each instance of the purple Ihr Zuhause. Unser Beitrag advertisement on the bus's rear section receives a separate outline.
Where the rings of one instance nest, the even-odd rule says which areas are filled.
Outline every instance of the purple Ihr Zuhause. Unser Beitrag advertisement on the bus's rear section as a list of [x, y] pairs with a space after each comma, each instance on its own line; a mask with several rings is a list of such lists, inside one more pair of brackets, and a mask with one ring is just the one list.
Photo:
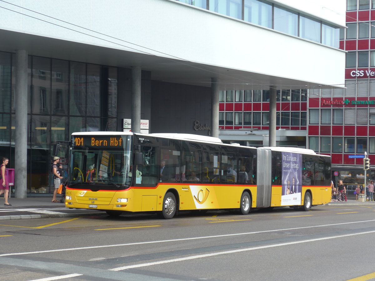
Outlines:
[[281, 152], [281, 155], [281, 205], [300, 205], [302, 192], [302, 155], [293, 152]]

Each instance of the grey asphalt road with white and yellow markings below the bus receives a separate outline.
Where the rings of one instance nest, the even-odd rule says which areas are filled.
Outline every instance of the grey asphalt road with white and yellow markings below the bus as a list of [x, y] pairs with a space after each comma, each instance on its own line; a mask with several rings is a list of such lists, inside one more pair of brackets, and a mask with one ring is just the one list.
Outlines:
[[375, 205], [0, 221], [0, 280], [372, 280]]

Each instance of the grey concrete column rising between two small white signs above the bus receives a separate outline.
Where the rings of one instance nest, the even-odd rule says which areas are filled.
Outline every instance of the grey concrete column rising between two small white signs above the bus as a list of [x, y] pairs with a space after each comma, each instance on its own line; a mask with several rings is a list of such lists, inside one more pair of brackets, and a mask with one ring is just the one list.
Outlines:
[[132, 132], [141, 132], [141, 67], [132, 67]]

